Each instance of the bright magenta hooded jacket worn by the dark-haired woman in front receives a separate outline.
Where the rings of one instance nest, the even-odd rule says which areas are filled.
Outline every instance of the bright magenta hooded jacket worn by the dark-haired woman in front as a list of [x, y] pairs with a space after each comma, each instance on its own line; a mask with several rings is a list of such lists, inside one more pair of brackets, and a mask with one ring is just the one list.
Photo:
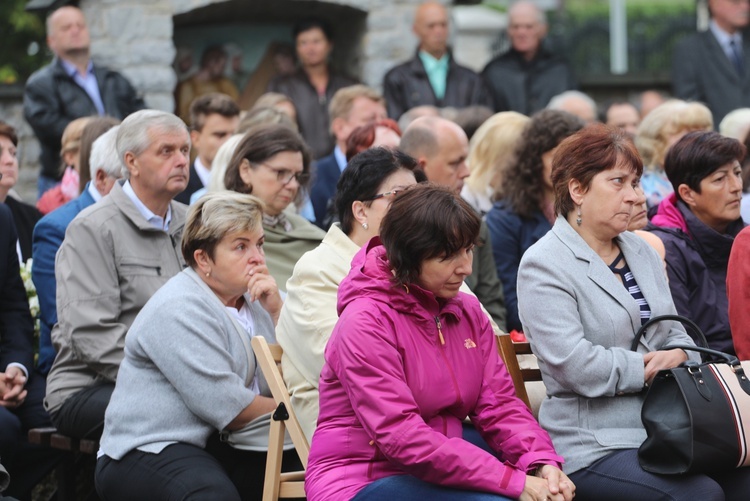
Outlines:
[[[320, 375], [309, 501], [349, 500], [403, 474], [517, 498], [526, 472], [562, 463], [516, 398], [476, 298], [437, 301], [395, 285], [373, 239], [341, 282], [338, 310]], [[504, 462], [463, 440], [467, 416]]]

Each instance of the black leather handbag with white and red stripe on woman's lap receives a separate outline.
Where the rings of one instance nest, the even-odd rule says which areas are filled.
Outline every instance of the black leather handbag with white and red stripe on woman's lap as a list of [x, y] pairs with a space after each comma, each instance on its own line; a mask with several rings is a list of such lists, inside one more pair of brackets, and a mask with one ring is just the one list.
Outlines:
[[638, 449], [641, 467], [659, 474], [727, 471], [750, 464], [750, 381], [734, 355], [709, 349], [700, 328], [679, 315], [646, 322], [633, 340], [638, 342], [657, 322], [679, 321], [704, 346], [674, 345], [701, 353], [701, 363], [687, 361], [659, 371], [648, 388], [641, 420], [648, 438]]

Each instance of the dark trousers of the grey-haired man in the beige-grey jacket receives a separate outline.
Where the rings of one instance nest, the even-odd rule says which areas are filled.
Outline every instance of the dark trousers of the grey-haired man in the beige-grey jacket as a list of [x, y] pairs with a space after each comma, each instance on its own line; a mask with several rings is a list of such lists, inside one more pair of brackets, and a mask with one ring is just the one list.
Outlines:
[[113, 383], [104, 383], [74, 393], [52, 414], [52, 422], [64, 435], [99, 440], [104, 431], [104, 412], [114, 389]]

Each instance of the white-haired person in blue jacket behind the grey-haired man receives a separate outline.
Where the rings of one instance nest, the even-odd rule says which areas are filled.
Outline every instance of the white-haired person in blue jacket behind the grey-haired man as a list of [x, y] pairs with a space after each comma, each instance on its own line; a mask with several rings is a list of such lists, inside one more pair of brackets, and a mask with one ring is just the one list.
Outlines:
[[32, 256], [34, 266], [31, 279], [36, 286], [39, 298], [40, 332], [39, 360], [37, 370], [45, 376], [55, 360], [50, 332], [57, 323], [57, 282], [55, 280], [55, 255], [65, 238], [65, 230], [70, 222], [89, 205], [106, 196], [122, 178], [124, 168], [117, 156], [117, 129], [115, 126], [94, 141], [91, 147], [91, 181], [83, 193], [44, 216], [34, 227]]

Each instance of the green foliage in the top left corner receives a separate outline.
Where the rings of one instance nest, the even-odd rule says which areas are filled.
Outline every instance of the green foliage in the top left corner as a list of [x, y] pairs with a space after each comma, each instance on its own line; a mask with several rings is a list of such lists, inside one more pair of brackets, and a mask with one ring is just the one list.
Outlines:
[[25, 6], [26, 0], [0, 1], [0, 85], [23, 83], [51, 59], [44, 20]]

